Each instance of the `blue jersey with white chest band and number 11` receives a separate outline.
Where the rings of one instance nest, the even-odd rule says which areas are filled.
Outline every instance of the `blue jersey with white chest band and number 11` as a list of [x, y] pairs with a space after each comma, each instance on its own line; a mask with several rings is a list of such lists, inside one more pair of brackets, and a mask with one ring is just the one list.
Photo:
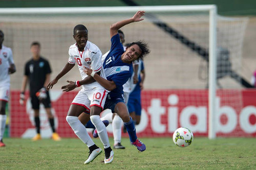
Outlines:
[[124, 63], [121, 60], [123, 53], [123, 45], [117, 33], [111, 38], [111, 49], [103, 62], [106, 79], [116, 84], [116, 88], [109, 93], [111, 98], [119, 98], [123, 94], [123, 84], [133, 74], [133, 64]]

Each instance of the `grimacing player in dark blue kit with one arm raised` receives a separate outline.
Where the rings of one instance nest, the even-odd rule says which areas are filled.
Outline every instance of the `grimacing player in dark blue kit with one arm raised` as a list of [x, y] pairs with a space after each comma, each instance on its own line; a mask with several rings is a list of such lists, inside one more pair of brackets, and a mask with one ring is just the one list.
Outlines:
[[104, 109], [111, 109], [113, 113], [117, 113], [122, 118], [132, 144], [141, 152], [146, 150], [146, 146], [137, 138], [133, 120], [124, 103], [123, 84], [132, 76], [132, 62], [135, 60], [143, 60], [143, 58], [150, 53], [150, 50], [148, 50], [146, 43], [136, 41], [130, 43], [124, 52], [118, 29], [129, 23], [143, 20], [141, 17], [144, 13], [144, 11], [138, 11], [132, 18], [111, 25], [111, 49], [103, 62], [107, 80], [95, 74], [92, 69], [84, 68], [84, 72], [86, 72], [87, 75], [91, 75], [101, 86], [111, 91], [106, 98]]

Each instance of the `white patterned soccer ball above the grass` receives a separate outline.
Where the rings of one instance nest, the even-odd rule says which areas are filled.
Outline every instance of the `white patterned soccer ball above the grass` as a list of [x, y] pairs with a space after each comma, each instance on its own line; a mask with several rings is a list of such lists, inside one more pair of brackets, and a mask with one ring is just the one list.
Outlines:
[[178, 147], [188, 147], [193, 138], [193, 133], [187, 128], [178, 128], [173, 134], [174, 143]]

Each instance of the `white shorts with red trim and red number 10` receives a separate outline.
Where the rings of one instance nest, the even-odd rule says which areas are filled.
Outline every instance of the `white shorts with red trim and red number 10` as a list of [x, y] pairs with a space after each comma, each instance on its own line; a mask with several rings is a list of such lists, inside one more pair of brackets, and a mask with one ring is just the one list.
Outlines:
[[90, 114], [90, 107], [98, 106], [103, 110], [108, 91], [103, 88], [95, 88], [91, 91], [81, 89], [71, 104], [86, 108], [86, 113]]

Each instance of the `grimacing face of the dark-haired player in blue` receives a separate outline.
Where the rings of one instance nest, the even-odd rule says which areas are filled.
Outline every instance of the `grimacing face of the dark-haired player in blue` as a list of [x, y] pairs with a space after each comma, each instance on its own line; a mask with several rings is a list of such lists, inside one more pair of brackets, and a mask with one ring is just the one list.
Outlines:
[[133, 44], [123, 53], [122, 61], [133, 62], [139, 58], [141, 55], [141, 50], [139, 45]]

